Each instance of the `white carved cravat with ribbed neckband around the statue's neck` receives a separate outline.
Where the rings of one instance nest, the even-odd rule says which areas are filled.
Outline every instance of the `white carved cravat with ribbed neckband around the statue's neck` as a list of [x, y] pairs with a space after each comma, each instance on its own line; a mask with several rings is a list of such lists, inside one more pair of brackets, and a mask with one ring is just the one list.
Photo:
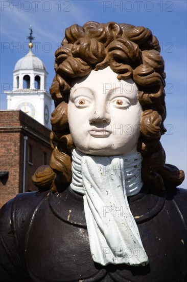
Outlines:
[[148, 257], [127, 196], [142, 188], [142, 156], [83, 155], [72, 152], [71, 187], [83, 194], [84, 212], [93, 261], [101, 265], [142, 266]]

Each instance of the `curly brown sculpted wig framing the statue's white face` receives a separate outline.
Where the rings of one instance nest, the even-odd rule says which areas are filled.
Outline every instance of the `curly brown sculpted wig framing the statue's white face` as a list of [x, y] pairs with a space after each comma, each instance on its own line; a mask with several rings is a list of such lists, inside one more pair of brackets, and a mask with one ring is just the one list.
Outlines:
[[[55, 52], [56, 75], [50, 88], [55, 101], [51, 119], [54, 150], [50, 167], [55, 177], [61, 177], [62, 186], [68, 186], [72, 179], [71, 150], [74, 144], [67, 120], [72, 80], [108, 66], [118, 79], [132, 78], [138, 87], [143, 114], [137, 150], [143, 155], [143, 182], [157, 190], [164, 190], [166, 183], [180, 185], [184, 173], [165, 164], [165, 151], [159, 142], [166, 132], [163, 126], [166, 118], [166, 74], [159, 43], [152, 32], [148, 28], [128, 24], [88, 22], [83, 27], [68, 27], [61, 45]], [[54, 174], [49, 171], [48, 174], [52, 179]], [[54, 179], [51, 187], [53, 191], [60, 191]]]

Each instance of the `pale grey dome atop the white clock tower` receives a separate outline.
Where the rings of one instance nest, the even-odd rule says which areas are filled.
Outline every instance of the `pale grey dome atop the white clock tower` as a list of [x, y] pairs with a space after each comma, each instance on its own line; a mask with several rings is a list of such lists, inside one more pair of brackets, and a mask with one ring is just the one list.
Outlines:
[[14, 67], [14, 72], [19, 70], [34, 70], [34, 69], [46, 71], [43, 62], [33, 54], [32, 49], [30, 48], [29, 53], [25, 57], [20, 58], [17, 61]]

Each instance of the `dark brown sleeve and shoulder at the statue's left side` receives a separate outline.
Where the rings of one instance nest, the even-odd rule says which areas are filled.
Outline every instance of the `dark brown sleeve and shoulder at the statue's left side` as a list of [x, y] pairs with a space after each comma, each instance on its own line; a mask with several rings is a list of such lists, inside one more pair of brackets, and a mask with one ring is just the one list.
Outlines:
[[20, 279], [25, 268], [21, 252], [25, 244], [23, 238], [35, 210], [49, 192], [17, 194], [0, 210], [0, 280], [5, 279], [1, 281], [25, 281]]

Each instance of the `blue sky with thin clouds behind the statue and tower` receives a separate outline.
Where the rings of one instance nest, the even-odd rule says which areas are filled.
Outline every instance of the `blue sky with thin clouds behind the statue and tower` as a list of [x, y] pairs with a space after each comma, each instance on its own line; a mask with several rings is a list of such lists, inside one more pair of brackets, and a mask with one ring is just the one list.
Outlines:
[[[1, 0], [1, 110], [12, 89], [13, 69], [28, 52], [32, 25], [33, 53], [54, 77], [54, 53], [64, 30], [88, 21], [127, 23], [148, 27], [158, 38], [165, 59], [168, 132], [161, 143], [167, 163], [186, 172], [186, 1], [4, 1]], [[186, 188], [186, 180], [181, 185]]]

